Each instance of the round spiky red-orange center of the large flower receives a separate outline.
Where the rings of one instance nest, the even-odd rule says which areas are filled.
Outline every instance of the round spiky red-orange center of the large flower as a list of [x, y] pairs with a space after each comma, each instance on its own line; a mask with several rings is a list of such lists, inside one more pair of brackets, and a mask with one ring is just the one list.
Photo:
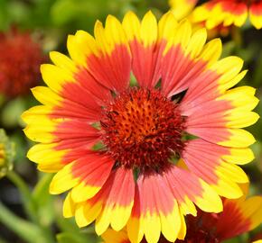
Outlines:
[[158, 170], [183, 147], [178, 105], [157, 90], [132, 88], [117, 95], [100, 123], [103, 142], [118, 166]]

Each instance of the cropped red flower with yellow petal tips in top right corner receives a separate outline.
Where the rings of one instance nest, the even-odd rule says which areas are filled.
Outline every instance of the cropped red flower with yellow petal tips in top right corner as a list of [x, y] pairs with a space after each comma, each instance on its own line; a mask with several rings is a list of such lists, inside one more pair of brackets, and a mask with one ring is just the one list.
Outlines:
[[262, 28], [262, 1], [260, 0], [211, 0], [198, 6], [192, 13], [192, 22], [205, 22], [208, 29], [221, 23], [224, 26], [242, 26], [249, 15], [250, 22]]

